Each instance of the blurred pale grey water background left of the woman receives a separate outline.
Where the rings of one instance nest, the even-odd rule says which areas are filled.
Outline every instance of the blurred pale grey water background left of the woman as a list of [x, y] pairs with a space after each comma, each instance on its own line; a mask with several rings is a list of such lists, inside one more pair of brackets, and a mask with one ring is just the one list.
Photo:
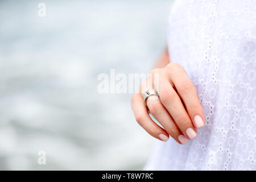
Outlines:
[[135, 122], [132, 94], [98, 93], [97, 76], [150, 71], [171, 4], [0, 1], [0, 169], [143, 169], [155, 139]]

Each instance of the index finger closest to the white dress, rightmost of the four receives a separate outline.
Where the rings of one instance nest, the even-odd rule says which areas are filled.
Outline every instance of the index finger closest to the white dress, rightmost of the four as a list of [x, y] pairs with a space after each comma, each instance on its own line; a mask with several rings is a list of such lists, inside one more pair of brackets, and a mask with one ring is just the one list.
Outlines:
[[194, 126], [197, 128], [203, 127], [205, 123], [204, 110], [197, 96], [196, 87], [188, 77], [187, 72], [179, 64], [174, 63], [169, 74], [170, 81], [182, 98]]

